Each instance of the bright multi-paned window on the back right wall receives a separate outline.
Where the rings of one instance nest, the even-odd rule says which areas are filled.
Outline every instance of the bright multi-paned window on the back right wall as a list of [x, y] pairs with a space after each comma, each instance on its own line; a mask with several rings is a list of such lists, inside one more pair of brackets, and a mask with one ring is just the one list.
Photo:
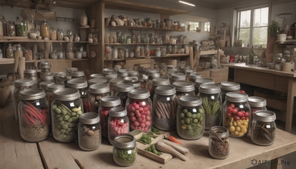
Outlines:
[[268, 6], [252, 7], [236, 11], [236, 40], [247, 44], [267, 46]]

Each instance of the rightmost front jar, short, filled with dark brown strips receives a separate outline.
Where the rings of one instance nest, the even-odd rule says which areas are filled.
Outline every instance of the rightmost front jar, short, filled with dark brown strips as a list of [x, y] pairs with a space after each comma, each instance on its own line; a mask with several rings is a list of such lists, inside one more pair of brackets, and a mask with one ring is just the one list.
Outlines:
[[272, 111], [256, 111], [251, 127], [251, 140], [258, 145], [273, 144], [276, 135], [275, 120], [275, 113]]

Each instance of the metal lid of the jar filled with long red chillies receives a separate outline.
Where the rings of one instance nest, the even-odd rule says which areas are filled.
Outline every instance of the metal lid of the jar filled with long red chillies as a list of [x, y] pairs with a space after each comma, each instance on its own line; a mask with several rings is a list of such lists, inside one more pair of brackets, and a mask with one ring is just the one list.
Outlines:
[[46, 96], [43, 89], [40, 88], [32, 88], [32, 89], [24, 89], [19, 93], [19, 99], [25, 101], [32, 101], [37, 99], [42, 99]]

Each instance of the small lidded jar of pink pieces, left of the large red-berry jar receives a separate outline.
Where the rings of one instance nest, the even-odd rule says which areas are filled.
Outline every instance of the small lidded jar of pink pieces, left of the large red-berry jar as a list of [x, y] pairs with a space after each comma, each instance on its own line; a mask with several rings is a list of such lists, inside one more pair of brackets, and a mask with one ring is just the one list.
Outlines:
[[108, 118], [108, 140], [114, 145], [114, 137], [129, 133], [129, 120], [124, 107], [110, 109]]

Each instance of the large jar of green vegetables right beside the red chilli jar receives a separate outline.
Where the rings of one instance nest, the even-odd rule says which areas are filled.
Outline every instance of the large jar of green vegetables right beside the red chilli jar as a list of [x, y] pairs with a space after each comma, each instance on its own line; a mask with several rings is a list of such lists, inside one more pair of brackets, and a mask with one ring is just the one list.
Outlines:
[[74, 142], [77, 139], [77, 125], [83, 113], [83, 103], [78, 89], [57, 89], [51, 103], [52, 136], [59, 142]]

